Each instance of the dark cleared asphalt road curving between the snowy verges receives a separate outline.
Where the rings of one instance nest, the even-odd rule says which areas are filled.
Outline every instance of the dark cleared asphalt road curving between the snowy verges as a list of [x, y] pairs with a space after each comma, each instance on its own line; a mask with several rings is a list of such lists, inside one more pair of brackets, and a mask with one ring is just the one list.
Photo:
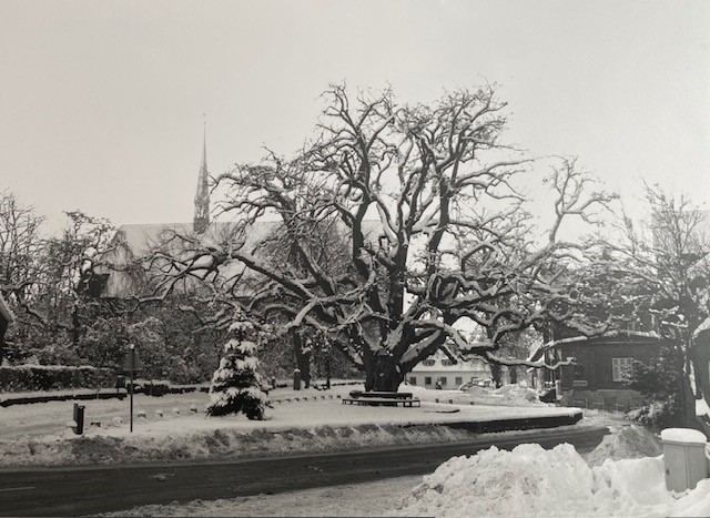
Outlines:
[[0, 516], [77, 516], [146, 504], [214, 500], [432, 473], [444, 460], [493, 445], [561, 443], [591, 450], [607, 428], [540, 430], [519, 437], [398, 446], [338, 454], [281, 456], [225, 463], [173, 463], [85, 468], [0, 470]]

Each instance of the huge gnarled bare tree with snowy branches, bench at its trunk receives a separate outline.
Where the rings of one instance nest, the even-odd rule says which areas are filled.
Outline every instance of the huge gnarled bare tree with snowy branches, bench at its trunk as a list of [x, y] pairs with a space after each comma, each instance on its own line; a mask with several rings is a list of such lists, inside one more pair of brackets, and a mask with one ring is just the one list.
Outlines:
[[[172, 257], [170, 283], [243, 265], [256, 278], [248, 314], [286, 318], [284, 333], [307, 325], [326, 334], [365, 372], [367, 389], [396, 389], [445, 345], [501, 363], [506, 334], [550, 313], [574, 318], [557, 309], [570, 301], [557, 280], [582, 246], [560, 241], [559, 230], [610, 196], [560, 160], [548, 177], [555, 219], [539, 243], [515, 187], [532, 162], [501, 141], [505, 103], [493, 88], [432, 106], [398, 104], [389, 91], [352, 99], [337, 85], [326, 98], [303, 152], [271, 153], [219, 179], [221, 209], [245, 232], [266, 212], [280, 217], [288, 258], [205, 242]], [[488, 328], [490, 343], [468, 343], [464, 321]]]

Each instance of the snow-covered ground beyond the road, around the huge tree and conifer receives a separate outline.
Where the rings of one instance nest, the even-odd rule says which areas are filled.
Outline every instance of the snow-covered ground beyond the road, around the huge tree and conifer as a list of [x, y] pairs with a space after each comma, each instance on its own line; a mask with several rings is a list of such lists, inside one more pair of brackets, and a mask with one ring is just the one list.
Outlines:
[[[145, 417], [136, 417], [132, 434], [125, 400], [82, 402], [87, 407], [83, 436], [65, 429], [71, 418], [71, 402], [11, 406], [0, 409], [0, 466], [229, 459], [443, 443], [470, 438], [471, 433], [439, 424], [578, 412], [536, 403], [523, 387], [480, 389], [474, 395], [407, 387], [422, 399], [420, 408], [343, 405], [338, 396], [357, 388], [362, 386], [338, 386], [327, 393], [274, 390], [271, 394], [274, 408], [268, 412], [268, 419], [262, 421], [247, 420], [244, 416], [207, 418], [203, 414], [205, 394], [159, 398], [140, 395], [135, 398], [135, 414]], [[518, 406], [511, 406], [516, 400]], [[606, 426], [609, 415], [604, 415], [602, 420], [602, 424], [595, 421], [595, 413], [585, 410], [585, 418], [577, 426]], [[101, 421], [101, 426], [91, 426], [92, 421]], [[418, 426], [404, 426], [414, 424]]]

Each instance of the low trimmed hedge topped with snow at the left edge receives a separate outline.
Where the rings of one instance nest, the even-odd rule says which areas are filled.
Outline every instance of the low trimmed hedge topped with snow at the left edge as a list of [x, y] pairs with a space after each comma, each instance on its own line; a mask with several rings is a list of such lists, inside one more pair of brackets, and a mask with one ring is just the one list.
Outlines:
[[115, 387], [112, 368], [63, 365], [14, 365], [0, 367], [0, 393]]

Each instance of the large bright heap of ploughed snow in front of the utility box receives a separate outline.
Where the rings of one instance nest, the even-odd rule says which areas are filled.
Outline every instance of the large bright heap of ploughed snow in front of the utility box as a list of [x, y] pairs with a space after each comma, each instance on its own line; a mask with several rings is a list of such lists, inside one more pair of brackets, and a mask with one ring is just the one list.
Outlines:
[[[678, 497], [678, 498], [676, 498]], [[662, 457], [589, 467], [571, 445], [520, 445], [454, 457], [425, 476], [397, 512], [406, 516], [709, 516], [710, 479], [676, 497]]]

